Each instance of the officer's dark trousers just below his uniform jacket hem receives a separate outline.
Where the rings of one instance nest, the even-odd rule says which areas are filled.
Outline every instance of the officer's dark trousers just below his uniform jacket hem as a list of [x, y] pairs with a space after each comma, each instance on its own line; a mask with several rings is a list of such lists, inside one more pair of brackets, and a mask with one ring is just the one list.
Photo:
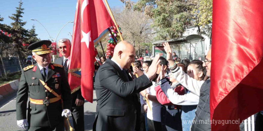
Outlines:
[[33, 127], [29, 126], [28, 131], [64, 131], [64, 120], [54, 127]]

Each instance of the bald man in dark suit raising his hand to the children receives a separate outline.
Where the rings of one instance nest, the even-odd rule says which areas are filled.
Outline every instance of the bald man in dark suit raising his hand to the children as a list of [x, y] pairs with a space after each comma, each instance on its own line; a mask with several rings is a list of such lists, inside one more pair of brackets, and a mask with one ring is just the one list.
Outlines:
[[150, 87], [155, 77], [159, 56], [155, 57], [147, 74], [132, 79], [126, 69], [130, 68], [135, 48], [127, 41], [115, 46], [111, 60], [100, 66], [95, 77], [97, 108], [94, 131], [134, 131], [136, 124], [136, 93]]

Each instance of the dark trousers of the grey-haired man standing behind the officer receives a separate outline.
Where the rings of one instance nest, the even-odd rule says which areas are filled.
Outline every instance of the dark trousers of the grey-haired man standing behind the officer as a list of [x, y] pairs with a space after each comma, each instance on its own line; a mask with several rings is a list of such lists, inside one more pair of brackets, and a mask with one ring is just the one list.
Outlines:
[[75, 131], [84, 131], [84, 104], [72, 107], [71, 116]]

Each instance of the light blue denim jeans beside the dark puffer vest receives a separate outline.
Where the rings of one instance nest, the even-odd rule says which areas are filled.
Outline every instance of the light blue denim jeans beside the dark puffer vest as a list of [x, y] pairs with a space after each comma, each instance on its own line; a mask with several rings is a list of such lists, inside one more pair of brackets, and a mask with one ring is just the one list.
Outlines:
[[182, 106], [182, 127], [183, 131], [190, 131], [193, 119], [195, 118], [195, 111], [197, 105], [183, 105]]

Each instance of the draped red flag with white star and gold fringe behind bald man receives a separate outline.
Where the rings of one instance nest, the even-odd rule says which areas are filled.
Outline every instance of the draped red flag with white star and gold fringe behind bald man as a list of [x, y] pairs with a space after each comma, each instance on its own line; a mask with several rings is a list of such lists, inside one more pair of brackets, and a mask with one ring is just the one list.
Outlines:
[[102, 0], [78, 0], [74, 18], [68, 82], [93, 102], [94, 40], [114, 23]]

